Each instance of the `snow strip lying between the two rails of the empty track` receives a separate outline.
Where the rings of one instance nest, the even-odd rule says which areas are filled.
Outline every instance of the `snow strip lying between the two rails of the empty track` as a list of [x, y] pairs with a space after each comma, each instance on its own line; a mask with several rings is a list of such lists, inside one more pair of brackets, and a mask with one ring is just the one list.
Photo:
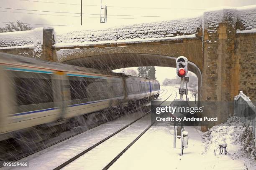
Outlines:
[[150, 115], [147, 115], [82, 157], [74, 160], [63, 169], [100, 170], [104, 168], [150, 124]]

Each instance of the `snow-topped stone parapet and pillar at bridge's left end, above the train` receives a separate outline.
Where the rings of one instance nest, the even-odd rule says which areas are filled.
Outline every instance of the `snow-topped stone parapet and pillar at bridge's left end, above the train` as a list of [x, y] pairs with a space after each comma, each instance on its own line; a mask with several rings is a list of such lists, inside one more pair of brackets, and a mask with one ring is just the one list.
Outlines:
[[53, 28], [0, 33], [0, 52], [56, 61]]

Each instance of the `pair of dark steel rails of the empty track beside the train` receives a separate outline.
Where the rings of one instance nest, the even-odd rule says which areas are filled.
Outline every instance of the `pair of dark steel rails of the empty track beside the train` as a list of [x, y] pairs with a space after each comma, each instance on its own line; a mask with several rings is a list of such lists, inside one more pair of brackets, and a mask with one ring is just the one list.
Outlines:
[[[165, 90], [166, 93], [164, 95], [166, 95], [168, 93], [168, 90]], [[169, 95], [163, 102], [165, 102], [166, 100], [169, 99], [169, 97], [172, 96], [173, 94]], [[162, 92], [163, 93], [163, 92]], [[176, 92], [176, 96], [177, 97], [177, 92]], [[161, 104], [163, 103], [161, 102]], [[160, 105], [161, 105], [160, 104]], [[142, 115], [141, 117], [139, 117], [138, 119], [134, 120], [133, 122], [130, 122], [129, 124], [125, 125], [123, 128], [120, 128], [119, 130], [117, 130], [115, 133], [109, 135], [108, 137], [104, 138], [103, 140], [101, 140], [100, 142], [96, 143], [95, 145], [92, 145], [90, 148], [87, 148], [86, 150], [82, 151], [81, 153], [79, 153], [78, 155], [75, 155], [74, 157], [72, 157], [71, 159], [67, 160], [66, 162], [62, 163], [61, 165], [59, 165], [58, 167], [54, 168], [54, 170], [60, 170], [61, 168], [64, 168], [65, 166], [69, 165], [70, 163], [72, 163], [73, 161], [77, 160], [80, 157], [84, 157], [90, 150], [95, 149], [97, 146], [104, 144], [105, 142], [107, 142], [110, 138], [114, 137], [117, 134], [120, 134], [120, 132], [122, 132], [123, 130], [125, 130], [126, 128], [130, 127], [131, 125], [135, 124], [136, 122], [138, 122], [138, 120], [141, 120], [143, 117], [145, 117], [146, 115], [148, 115], [148, 113], [150, 113], [150, 111], [146, 112], [144, 115]], [[125, 153], [126, 150], [128, 150], [128, 148], [130, 148], [139, 138], [141, 138], [141, 136], [146, 133], [146, 131], [154, 124], [151, 123], [149, 126], [147, 126], [147, 128], [145, 130], [143, 130], [142, 133], [140, 133], [129, 145], [127, 145], [127, 147], [125, 147], [125, 149], [123, 149], [113, 160], [110, 161], [110, 163], [108, 163], [108, 165], [106, 165], [103, 169], [108, 169], [111, 165], [113, 165], [113, 163], [118, 160], [118, 158], [120, 158], [121, 155], [123, 155], [123, 153]]]

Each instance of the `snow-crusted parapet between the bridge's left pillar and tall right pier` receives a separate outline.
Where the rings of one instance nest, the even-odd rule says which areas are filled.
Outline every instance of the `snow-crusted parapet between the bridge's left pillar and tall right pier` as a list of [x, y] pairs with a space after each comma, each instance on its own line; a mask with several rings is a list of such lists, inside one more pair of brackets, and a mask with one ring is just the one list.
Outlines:
[[125, 25], [105, 30], [70, 31], [64, 34], [57, 34], [54, 47], [61, 48], [105, 43], [167, 40], [180, 35], [196, 35], [201, 27], [202, 17], [197, 17]]

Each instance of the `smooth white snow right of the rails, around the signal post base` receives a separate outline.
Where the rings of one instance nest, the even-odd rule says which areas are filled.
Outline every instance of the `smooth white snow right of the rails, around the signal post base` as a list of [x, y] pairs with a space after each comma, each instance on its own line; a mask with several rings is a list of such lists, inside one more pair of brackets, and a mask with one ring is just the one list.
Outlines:
[[[168, 89], [170, 86], [164, 86]], [[178, 88], [176, 88], [178, 89]], [[189, 95], [192, 97], [192, 93]], [[215, 128], [215, 127], [214, 127]], [[213, 128], [213, 129], [214, 129]], [[221, 129], [221, 126], [218, 126]], [[189, 133], [189, 147], [184, 149], [184, 155], [180, 156], [180, 140], [176, 140], [176, 147], [173, 148], [173, 126], [151, 127], [122, 157], [120, 157], [110, 170], [137, 170], [137, 169], [178, 169], [178, 170], [255, 170], [255, 162], [246, 158], [233, 160], [233, 153], [240, 149], [239, 145], [233, 143], [229, 136], [228, 152], [230, 155], [215, 155], [218, 145], [211, 143], [208, 151], [207, 145], [202, 143], [203, 133], [195, 127], [184, 127]], [[230, 131], [229, 131], [230, 130]], [[234, 127], [227, 129], [225, 133], [233, 133]], [[214, 134], [214, 140], [219, 134]], [[235, 138], [235, 137], [233, 137]]]

